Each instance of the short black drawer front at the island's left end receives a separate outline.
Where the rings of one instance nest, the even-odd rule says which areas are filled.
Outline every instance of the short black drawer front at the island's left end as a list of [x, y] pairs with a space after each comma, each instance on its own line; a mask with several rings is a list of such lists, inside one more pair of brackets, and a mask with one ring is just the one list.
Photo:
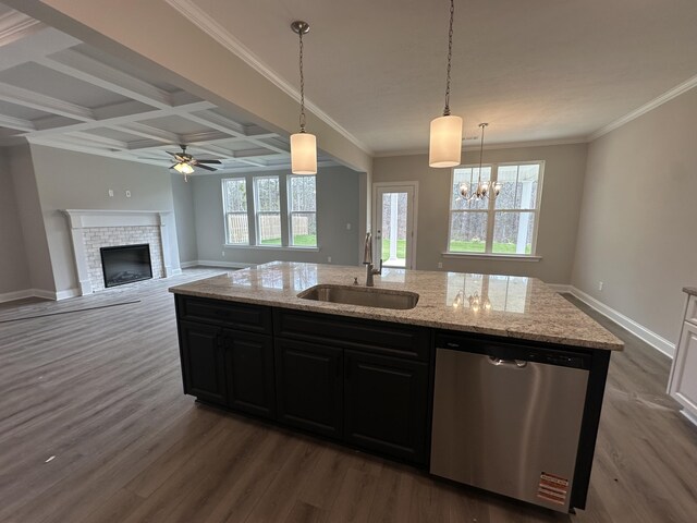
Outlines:
[[271, 333], [271, 309], [260, 305], [178, 295], [176, 314], [188, 321]]

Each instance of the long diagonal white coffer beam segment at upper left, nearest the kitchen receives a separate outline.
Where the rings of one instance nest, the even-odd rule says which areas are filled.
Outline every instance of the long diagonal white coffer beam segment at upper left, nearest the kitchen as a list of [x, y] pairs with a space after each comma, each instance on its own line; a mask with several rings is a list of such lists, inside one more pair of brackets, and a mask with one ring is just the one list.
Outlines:
[[36, 62], [59, 73], [159, 109], [172, 107], [169, 93], [72, 49], [57, 52]]

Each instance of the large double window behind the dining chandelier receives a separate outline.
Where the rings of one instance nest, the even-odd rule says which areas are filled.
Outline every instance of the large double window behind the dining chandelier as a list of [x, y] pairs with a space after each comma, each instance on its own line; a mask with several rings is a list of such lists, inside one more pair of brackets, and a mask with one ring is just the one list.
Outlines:
[[476, 188], [479, 167], [453, 169], [449, 253], [535, 254], [543, 162], [482, 166], [481, 181], [494, 181], [493, 199], [466, 202], [464, 182]]

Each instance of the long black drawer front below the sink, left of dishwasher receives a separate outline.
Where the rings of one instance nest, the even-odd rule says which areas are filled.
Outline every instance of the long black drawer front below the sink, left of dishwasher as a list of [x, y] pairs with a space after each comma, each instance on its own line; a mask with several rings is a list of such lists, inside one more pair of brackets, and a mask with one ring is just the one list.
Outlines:
[[426, 328], [343, 316], [276, 308], [276, 336], [398, 357], [428, 361], [430, 333]]

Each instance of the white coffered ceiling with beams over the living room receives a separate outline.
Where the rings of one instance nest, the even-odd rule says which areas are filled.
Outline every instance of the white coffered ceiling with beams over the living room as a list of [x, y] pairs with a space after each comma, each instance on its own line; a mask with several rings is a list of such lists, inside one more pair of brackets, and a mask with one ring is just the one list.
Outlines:
[[0, 145], [24, 139], [163, 168], [179, 144], [220, 172], [290, 167], [286, 137], [0, 4]]

